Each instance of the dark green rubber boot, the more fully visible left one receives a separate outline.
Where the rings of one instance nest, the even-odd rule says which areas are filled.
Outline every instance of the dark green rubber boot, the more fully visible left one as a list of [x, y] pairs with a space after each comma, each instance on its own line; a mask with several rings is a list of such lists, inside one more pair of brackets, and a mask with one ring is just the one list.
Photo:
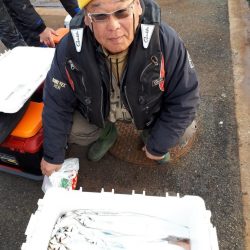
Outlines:
[[114, 145], [117, 139], [117, 130], [114, 123], [107, 123], [102, 130], [101, 136], [95, 141], [88, 150], [90, 161], [99, 161]]

